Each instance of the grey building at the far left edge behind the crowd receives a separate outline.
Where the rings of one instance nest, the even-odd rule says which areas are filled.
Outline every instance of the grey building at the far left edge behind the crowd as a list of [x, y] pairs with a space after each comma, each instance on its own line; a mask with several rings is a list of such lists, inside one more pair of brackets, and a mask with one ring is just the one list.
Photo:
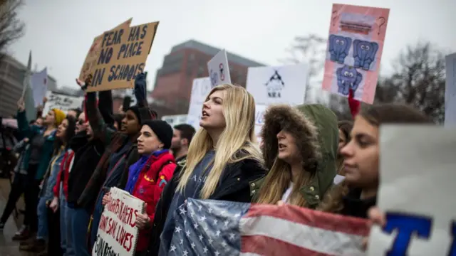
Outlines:
[[[9, 55], [0, 60], [0, 116], [11, 117], [17, 112], [17, 101], [22, 94], [26, 65]], [[48, 75], [48, 90], [55, 90], [57, 82]]]

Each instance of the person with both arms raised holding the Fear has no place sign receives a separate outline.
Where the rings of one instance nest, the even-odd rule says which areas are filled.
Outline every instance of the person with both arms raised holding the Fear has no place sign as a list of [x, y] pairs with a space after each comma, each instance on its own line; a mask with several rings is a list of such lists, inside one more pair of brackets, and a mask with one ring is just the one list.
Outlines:
[[[86, 90], [91, 85], [91, 79], [92, 77], [89, 75], [85, 82], [81, 80], [76, 80], [76, 82], [83, 90]], [[102, 199], [105, 191], [113, 186], [125, 187], [128, 179], [128, 167], [139, 159], [136, 139], [141, 129], [140, 124], [142, 121], [155, 119], [157, 116], [155, 112], [149, 110], [145, 92], [145, 74], [141, 73], [135, 79], [135, 97], [138, 105], [128, 108], [125, 112], [120, 131], [111, 129], [103, 121], [96, 105], [96, 92], [86, 92], [86, 107], [90, 127], [93, 129], [94, 136], [105, 144], [105, 152], [77, 201], [78, 206], [87, 207], [96, 198], [92, 220], [88, 228], [90, 230], [89, 251], [97, 238], [98, 224], [103, 213]]]

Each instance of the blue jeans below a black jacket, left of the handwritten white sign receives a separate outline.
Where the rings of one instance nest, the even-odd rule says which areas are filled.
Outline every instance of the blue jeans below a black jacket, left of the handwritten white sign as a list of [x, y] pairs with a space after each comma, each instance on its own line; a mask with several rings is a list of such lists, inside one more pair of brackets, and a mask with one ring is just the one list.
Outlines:
[[84, 208], [68, 208], [68, 219], [71, 221], [71, 237], [73, 249], [76, 256], [90, 256], [87, 247], [87, 229], [90, 220], [90, 213]]

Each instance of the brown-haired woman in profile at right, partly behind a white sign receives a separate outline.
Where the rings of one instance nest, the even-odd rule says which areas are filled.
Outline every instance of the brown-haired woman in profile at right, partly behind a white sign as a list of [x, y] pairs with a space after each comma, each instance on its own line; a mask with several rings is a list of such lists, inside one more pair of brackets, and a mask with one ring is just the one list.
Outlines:
[[328, 193], [320, 210], [368, 218], [378, 191], [381, 124], [431, 124], [422, 112], [405, 105], [376, 105], [355, 117], [351, 140], [341, 149], [345, 179]]

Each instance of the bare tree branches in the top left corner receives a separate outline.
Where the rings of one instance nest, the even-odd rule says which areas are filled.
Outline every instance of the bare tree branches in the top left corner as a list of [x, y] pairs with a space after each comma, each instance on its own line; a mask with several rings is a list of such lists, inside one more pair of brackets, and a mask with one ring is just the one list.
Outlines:
[[22, 4], [22, 0], [0, 0], [0, 58], [11, 43], [24, 35], [25, 25], [17, 14]]

